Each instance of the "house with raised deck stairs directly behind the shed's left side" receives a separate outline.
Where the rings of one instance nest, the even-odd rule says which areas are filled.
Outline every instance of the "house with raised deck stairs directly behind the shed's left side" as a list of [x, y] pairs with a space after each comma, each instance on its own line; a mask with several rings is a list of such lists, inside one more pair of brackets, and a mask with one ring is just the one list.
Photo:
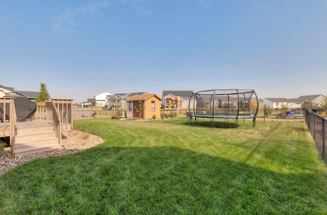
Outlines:
[[146, 95], [149, 92], [137, 92], [137, 93], [116, 93], [114, 95], [108, 96], [105, 106], [108, 110], [127, 110], [126, 99], [134, 95]]

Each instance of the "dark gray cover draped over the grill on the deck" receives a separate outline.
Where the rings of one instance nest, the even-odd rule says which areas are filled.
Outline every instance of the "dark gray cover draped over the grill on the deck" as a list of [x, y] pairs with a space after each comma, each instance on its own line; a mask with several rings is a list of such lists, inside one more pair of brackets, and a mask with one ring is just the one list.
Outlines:
[[[27, 97], [14, 97], [17, 121], [24, 121], [34, 116], [36, 103]], [[4, 116], [4, 104], [0, 103], [0, 120]], [[9, 104], [6, 104], [6, 119], [9, 119]]]

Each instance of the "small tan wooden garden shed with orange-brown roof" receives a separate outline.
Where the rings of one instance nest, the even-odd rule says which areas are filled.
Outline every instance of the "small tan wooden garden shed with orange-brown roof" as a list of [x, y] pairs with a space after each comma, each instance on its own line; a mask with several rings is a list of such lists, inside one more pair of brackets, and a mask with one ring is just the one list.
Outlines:
[[134, 95], [126, 99], [127, 118], [160, 118], [160, 101], [157, 94]]

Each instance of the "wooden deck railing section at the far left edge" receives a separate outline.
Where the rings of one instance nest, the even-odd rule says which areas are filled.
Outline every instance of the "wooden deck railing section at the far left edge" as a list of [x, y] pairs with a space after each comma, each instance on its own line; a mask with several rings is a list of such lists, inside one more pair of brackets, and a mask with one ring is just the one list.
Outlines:
[[[0, 98], [0, 105], [3, 106], [3, 114], [0, 116], [3, 120], [3, 134], [2, 137], [10, 137], [10, 146], [12, 153], [15, 149], [15, 124], [16, 124], [16, 111], [15, 111], [15, 104], [14, 104], [14, 98], [7, 97], [7, 98]], [[9, 110], [9, 111], [7, 111]], [[9, 119], [6, 117], [6, 113], [9, 112]], [[7, 114], [8, 116], [8, 114]], [[8, 125], [9, 123], [9, 125]], [[6, 130], [7, 126], [9, 126], [9, 134]]]

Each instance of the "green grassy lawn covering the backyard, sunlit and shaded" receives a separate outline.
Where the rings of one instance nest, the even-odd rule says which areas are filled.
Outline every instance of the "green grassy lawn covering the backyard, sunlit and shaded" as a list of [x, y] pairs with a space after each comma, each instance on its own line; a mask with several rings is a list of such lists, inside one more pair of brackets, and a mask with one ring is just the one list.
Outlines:
[[0, 176], [0, 214], [327, 214], [303, 121], [77, 120], [105, 142]]

